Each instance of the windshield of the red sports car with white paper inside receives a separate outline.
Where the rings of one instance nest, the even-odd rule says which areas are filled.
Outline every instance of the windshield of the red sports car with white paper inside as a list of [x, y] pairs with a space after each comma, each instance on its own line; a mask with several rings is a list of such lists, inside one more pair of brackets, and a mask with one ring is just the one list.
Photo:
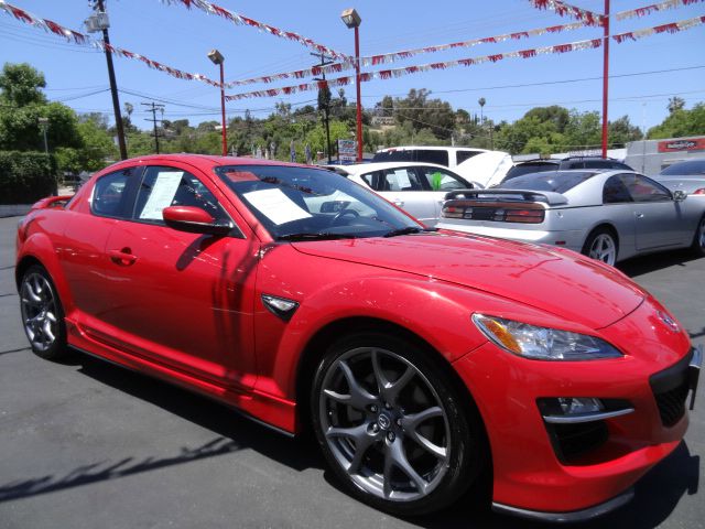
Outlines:
[[215, 172], [275, 239], [379, 237], [422, 227], [371, 191], [330, 171], [223, 165]]

